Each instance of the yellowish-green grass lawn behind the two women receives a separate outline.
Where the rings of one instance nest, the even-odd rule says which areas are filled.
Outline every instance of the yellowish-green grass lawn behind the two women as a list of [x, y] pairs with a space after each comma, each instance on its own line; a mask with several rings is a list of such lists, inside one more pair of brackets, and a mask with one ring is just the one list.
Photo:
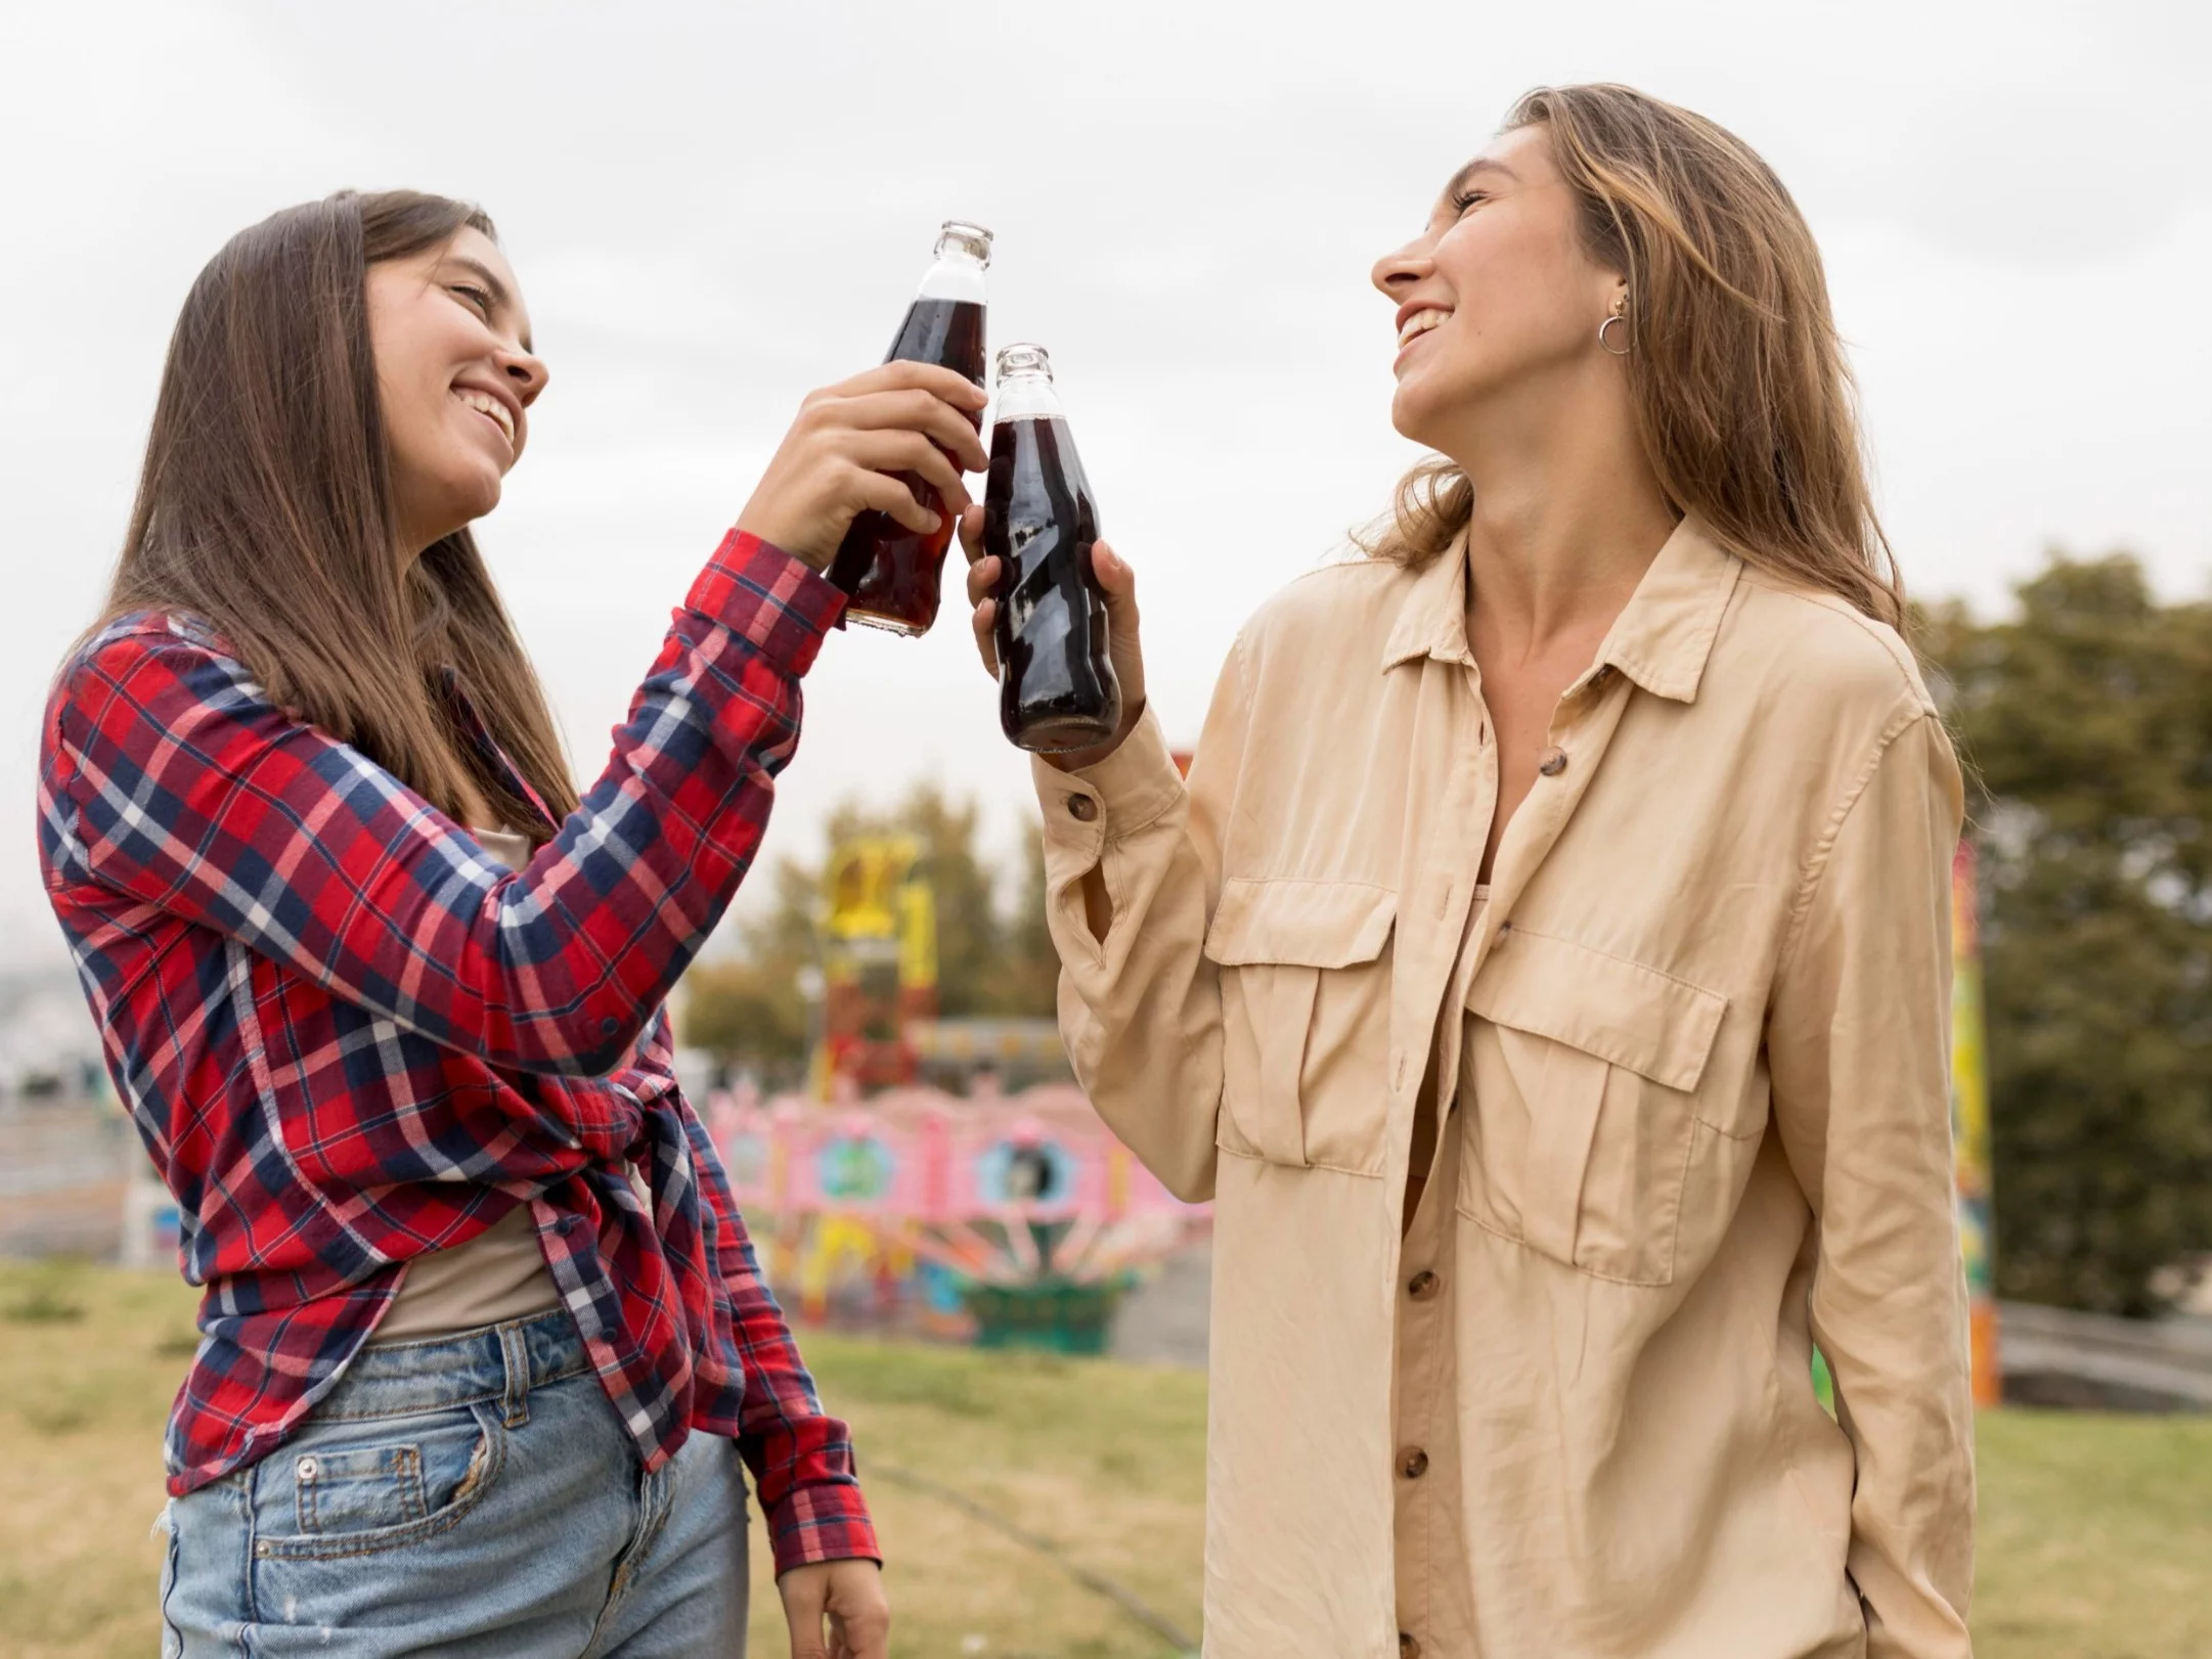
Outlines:
[[[0, 1263], [0, 1655], [155, 1650], [161, 1420], [190, 1292], [157, 1274]], [[1051, 1537], [1199, 1624], [1206, 1380], [1099, 1360], [803, 1338], [860, 1475], [900, 1469]], [[1980, 1659], [2212, 1655], [2212, 1420], [1997, 1411], [1980, 1425]], [[1150, 1659], [1102, 1597], [936, 1498], [869, 1482], [894, 1650]], [[978, 1646], [980, 1639], [980, 1646]], [[754, 1655], [785, 1652], [754, 1533]]]

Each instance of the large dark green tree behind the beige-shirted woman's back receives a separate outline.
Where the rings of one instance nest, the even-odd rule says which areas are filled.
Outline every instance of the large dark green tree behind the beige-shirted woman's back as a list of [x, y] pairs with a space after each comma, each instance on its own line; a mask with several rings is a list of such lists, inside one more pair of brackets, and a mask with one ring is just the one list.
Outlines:
[[2212, 606], [2053, 555], [1924, 646], [1969, 768], [1997, 1290], [2157, 1312], [2212, 1250]]

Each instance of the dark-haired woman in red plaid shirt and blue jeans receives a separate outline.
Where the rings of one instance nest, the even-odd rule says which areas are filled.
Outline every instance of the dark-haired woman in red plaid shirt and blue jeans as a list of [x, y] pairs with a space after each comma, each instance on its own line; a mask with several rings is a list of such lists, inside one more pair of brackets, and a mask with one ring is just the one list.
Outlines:
[[478, 210], [336, 195], [184, 305], [40, 852], [177, 1194], [164, 1652], [741, 1652], [743, 1460], [792, 1650], [889, 1613], [677, 1088], [664, 998], [752, 860], [854, 513], [958, 511], [984, 396], [814, 394], [577, 794], [469, 538], [546, 367]]

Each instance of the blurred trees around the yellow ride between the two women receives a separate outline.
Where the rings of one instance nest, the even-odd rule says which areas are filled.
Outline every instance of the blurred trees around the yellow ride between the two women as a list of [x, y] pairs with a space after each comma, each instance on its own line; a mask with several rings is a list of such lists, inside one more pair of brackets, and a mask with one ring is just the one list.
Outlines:
[[799, 980], [818, 962], [823, 863], [841, 841], [885, 832], [922, 843], [938, 914], [938, 1013], [1051, 1018], [1060, 958], [1044, 933], [1037, 832], [1022, 836], [1024, 880], [1006, 916], [1000, 872], [975, 847], [978, 816], [975, 801], [951, 801], [933, 783], [918, 783], [887, 814], [841, 803], [825, 823], [823, 856], [812, 865], [781, 860], [772, 902], [734, 925], [734, 951], [701, 960], [684, 978], [684, 1042], [772, 1082], [796, 1079], [810, 1040]]

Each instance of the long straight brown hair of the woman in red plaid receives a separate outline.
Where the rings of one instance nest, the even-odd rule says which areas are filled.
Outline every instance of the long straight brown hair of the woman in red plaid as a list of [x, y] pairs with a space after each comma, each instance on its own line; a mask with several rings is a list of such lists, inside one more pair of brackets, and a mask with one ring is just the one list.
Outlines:
[[104, 615], [210, 624], [270, 697], [460, 816], [538, 814], [456, 732], [458, 670], [491, 737], [551, 807], [575, 810], [544, 690], [469, 531], [398, 557], [369, 347], [369, 265], [491, 219], [467, 201], [343, 190], [241, 230], [177, 316], [146, 467]]

